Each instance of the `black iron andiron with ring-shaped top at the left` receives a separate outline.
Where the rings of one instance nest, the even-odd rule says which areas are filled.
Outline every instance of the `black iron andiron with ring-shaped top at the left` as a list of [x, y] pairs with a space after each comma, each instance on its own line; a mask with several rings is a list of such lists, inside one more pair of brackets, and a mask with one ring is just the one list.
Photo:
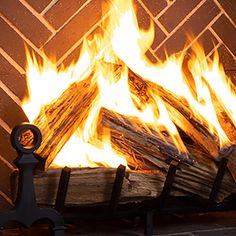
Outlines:
[[[34, 142], [31, 146], [23, 146], [19, 141], [20, 136], [28, 130], [33, 133]], [[39, 160], [33, 152], [40, 146], [41, 141], [41, 132], [34, 125], [21, 124], [12, 130], [11, 143], [18, 153], [14, 161], [19, 169], [18, 193], [14, 209], [0, 214], [0, 225], [16, 221], [30, 227], [34, 222], [46, 219], [53, 224], [54, 235], [63, 236], [65, 227], [62, 215], [53, 208], [39, 208], [36, 203], [33, 171]]]

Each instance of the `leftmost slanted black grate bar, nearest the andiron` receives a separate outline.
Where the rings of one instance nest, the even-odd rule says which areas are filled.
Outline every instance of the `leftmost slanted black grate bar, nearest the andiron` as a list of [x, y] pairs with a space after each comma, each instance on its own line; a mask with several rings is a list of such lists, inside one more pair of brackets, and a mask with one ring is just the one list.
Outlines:
[[70, 180], [70, 173], [71, 173], [71, 168], [68, 167], [64, 167], [61, 171], [61, 176], [57, 189], [56, 202], [55, 202], [55, 209], [61, 213], [63, 212], [65, 207], [65, 200]]

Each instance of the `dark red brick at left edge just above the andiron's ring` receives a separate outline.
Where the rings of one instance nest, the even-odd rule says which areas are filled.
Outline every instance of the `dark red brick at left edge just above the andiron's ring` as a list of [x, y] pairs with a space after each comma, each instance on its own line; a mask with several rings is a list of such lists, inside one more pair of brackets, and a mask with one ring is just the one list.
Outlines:
[[10, 128], [28, 121], [22, 109], [0, 88], [0, 117]]

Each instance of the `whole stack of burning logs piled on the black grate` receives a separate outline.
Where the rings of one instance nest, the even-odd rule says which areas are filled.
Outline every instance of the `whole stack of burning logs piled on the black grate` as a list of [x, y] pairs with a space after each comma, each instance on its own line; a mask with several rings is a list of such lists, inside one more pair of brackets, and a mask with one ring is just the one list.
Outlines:
[[[111, 66], [111, 69], [119, 76], [122, 66]], [[98, 87], [94, 83], [95, 76], [91, 73], [84, 80], [73, 83], [35, 119], [34, 124], [38, 126], [43, 136], [37, 154], [47, 159], [46, 168], [76, 129], [83, 127], [91, 104], [98, 96]], [[187, 102], [182, 98], [178, 99], [167, 90], [140, 78], [132, 71], [129, 71], [129, 86], [130, 91], [141, 103], [152, 101], [149, 91], [158, 92], [170, 111], [172, 121], [180, 130], [188, 154], [180, 153], [176, 149], [168, 133], [157, 133], [151, 128], [144, 127], [135, 117], [102, 108], [98, 133], [107, 128], [110, 130], [112, 145], [127, 157], [128, 165], [132, 169], [127, 171], [124, 178], [121, 201], [159, 196], [173, 159], [180, 163], [174, 178], [172, 195], [194, 194], [208, 198], [222, 156], [229, 161], [217, 201], [222, 201], [236, 191], [233, 146], [220, 150], [219, 141], [208, 132], [204, 124], [191, 115]], [[219, 121], [227, 135], [233, 139], [235, 128], [227, 119], [223, 108], [217, 104], [217, 100], [215, 103], [219, 111]], [[165, 136], [165, 141], [162, 135]], [[79, 156], [78, 153], [78, 158]], [[72, 169], [66, 204], [83, 205], [108, 201], [115, 172], [116, 170], [112, 168]], [[59, 178], [60, 169], [56, 168], [48, 168], [47, 171], [35, 176], [38, 202], [54, 204]]]

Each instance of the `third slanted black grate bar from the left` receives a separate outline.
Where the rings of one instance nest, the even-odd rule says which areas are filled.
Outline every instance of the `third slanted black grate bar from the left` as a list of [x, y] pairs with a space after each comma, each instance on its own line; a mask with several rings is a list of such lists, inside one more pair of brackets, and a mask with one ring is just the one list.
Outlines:
[[156, 207], [158, 210], [160, 210], [164, 207], [165, 202], [170, 194], [178, 165], [179, 165], [179, 162], [176, 160], [172, 160], [170, 163], [170, 167], [169, 167], [169, 170], [168, 170], [168, 173], [166, 176], [163, 190], [161, 192], [161, 195], [159, 197], [157, 197], [157, 206]]

